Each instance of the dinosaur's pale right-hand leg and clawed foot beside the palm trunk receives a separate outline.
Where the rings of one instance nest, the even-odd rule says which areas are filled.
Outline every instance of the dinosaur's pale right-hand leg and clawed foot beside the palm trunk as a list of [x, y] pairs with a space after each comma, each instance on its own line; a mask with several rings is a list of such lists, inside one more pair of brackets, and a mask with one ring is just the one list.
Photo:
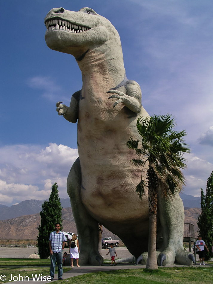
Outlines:
[[192, 265], [194, 256], [183, 248], [184, 208], [177, 194], [174, 199], [158, 197], [158, 215], [162, 227], [163, 245], [158, 256], [159, 265], [177, 263]]

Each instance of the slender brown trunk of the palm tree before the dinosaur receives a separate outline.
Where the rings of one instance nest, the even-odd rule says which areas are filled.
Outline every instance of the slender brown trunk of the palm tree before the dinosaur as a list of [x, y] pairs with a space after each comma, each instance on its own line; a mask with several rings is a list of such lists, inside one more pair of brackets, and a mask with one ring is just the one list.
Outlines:
[[147, 171], [148, 190], [149, 190], [149, 243], [148, 243], [148, 259], [146, 268], [158, 269], [156, 254], [156, 236], [157, 236], [157, 188], [158, 181], [154, 169], [149, 165]]

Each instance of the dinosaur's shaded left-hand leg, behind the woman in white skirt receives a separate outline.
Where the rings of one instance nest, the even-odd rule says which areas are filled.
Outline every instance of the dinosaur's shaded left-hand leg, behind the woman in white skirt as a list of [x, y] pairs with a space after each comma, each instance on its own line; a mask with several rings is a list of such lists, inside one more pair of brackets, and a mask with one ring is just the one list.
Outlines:
[[70, 196], [73, 216], [79, 240], [79, 264], [102, 265], [103, 258], [98, 252], [98, 222], [85, 210], [80, 198], [81, 167], [79, 158], [74, 162], [67, 179], [67, 192]]

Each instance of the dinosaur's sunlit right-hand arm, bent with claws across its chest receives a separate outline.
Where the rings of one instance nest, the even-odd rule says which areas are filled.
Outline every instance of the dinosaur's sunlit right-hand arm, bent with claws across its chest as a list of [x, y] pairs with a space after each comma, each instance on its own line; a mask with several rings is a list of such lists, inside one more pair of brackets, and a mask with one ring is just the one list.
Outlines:
[[117, 106], [118, 103], [123, 103], [133, 112], [139, 113], [141, 111], [141, 90], [135, 81], [128, 81], [126, 84], [126, 94], [118, 90], [110, 90], [108, 93], [115, 94], [109, 97], [109, 99], [117, 99], [113, 107]]

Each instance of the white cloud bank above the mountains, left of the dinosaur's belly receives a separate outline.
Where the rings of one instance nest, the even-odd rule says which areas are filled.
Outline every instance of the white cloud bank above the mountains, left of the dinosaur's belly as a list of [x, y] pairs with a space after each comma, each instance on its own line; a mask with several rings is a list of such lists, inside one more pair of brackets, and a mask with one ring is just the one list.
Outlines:
[[49, 198], [57, 182], [59, 196], [67, 198], [66, 180], [78, 150], [49, 146], [10, 145], [0, 147], [0, 204], [12, 205], [28, 199]]

